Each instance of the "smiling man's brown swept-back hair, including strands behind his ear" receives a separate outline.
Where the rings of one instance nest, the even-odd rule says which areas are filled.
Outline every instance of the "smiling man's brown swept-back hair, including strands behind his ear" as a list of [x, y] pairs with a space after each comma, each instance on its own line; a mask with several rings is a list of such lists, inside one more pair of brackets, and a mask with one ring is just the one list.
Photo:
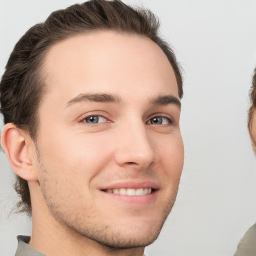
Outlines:
[[[133, 8], [120, 0], [90, 0], [52, 12], [16, 43], [0, 81], [0, 111], [4, 123], [14, 123], [36, 142], [37, 111], [44, 89], [40, 67], [47, 50], [67, 37], [95, 30], [137, 34], [154, 41], [167, 56], [176, 77], [178, 95], [182, 97], [180, 66], [168, 43], [158, 34], [158, 18], [150, 10]], [[27, 181], [16, 176], [14, 188], [20, 196], [19, 211], [30, 215]]]

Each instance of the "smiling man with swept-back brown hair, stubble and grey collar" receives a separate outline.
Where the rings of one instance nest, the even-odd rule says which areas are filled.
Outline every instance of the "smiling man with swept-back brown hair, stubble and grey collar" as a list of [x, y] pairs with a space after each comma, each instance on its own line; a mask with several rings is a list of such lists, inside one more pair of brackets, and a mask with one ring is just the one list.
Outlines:
[[174, 203], [182, 78], [146, 10], [91, 0], [15, 45], [0, 82], [1, 144], [32, 217], [21, 255], [139, 255]]

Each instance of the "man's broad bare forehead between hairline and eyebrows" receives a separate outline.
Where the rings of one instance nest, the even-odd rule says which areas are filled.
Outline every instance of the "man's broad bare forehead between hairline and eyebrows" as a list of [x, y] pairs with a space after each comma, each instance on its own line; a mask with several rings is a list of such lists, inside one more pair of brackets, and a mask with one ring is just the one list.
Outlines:
[[43, 70], [46, 91], [61, 98], [88, 91], [125, 94], [134, 85], [144, 94], [154, 86], [178, 95], [167, 57], [152, 40], [138, 35], [96, 31], [67, 38], [49, 49]]

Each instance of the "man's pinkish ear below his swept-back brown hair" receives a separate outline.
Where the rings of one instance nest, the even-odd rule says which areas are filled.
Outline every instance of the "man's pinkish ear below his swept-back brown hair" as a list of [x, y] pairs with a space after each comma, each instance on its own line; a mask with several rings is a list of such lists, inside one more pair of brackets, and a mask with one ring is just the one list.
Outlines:
[[34, 150], [29, 150], [29, 147], [34, 147], [30, 136], [13, 123], [7, 123], [2, 129], [1, 145], [11, 168], [18, 176], [26, 180], [37, 180], [32, 155], [29, 155], [29, 151]]

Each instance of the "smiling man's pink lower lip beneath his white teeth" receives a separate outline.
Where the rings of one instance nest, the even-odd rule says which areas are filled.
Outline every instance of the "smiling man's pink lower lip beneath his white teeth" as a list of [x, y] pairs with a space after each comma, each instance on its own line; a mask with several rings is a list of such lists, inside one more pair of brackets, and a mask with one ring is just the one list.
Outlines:
[[114, 194], [100, 190], [104, 196], [109, 199], [116, 200], [118, 202], [124, 202], [129, 204], [143, 205], [153, 202], [156, 199], [158, 190], [153, 190], [150, 194], [145, 195], [125, 195], [125, 194]]

